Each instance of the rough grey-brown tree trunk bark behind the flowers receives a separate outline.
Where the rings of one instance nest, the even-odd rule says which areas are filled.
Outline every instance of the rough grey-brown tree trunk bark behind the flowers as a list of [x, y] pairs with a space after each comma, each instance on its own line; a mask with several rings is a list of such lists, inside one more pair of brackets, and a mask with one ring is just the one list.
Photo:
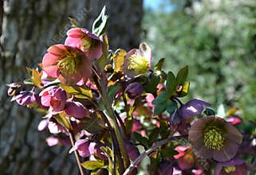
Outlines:
[[[21, 81], [35, 68], [49, 45], [61, 43], [68, 17], [91, 28], [107, 5], [112, 49], [136, 47], [140, 41], [142, 1], [0, 0], [0, 172], [1, 174], [78, 174], [67, 147], [48, 147], [46, 131], [37, 131], [41, 115], [10, 103], [6, 85]], [[3, 10], [3, 11], [2, 11]]]

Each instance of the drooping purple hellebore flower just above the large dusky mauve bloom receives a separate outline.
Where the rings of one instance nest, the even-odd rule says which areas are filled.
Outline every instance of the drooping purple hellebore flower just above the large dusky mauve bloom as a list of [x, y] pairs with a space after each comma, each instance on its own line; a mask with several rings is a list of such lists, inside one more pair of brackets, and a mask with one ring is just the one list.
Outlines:
[[191, 99], [179, 108], [179, 116], [183, 119], [191, 119], [195, 115], [201, 115], [204, 107], [211, 107], [211, 104], [200, 99]]

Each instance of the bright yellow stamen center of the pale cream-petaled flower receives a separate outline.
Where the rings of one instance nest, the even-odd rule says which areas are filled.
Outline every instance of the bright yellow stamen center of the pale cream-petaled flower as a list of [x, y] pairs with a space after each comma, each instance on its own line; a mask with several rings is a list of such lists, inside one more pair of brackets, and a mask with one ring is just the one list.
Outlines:
[[142, 56], [133, 54], [129, 57], [128, 69], [133, 69], [136, 73], [143, 74], [148, 71], [148, 60]]

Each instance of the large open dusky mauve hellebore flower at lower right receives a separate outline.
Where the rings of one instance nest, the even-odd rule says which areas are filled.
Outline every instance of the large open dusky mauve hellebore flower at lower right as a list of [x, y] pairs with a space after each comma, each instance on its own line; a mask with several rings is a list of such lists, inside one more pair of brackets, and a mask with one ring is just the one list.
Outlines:
[[238, 152], [242, 134], [224, 119], [207, 116], [192, 124], [188, 140], [196, 156], [229, 161]]

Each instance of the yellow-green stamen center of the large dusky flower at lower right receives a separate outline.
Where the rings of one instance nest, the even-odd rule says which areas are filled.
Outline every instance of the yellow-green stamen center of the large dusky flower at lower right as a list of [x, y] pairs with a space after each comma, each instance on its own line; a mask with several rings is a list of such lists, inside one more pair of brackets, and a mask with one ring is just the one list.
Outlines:
[[223, 132], [216, 128], [215, 126], [211, 126], [203, 135], [204, 145], [211, 150], [220, 150], [223, 148], [223, 143], [225, 138], [223, 137]]

